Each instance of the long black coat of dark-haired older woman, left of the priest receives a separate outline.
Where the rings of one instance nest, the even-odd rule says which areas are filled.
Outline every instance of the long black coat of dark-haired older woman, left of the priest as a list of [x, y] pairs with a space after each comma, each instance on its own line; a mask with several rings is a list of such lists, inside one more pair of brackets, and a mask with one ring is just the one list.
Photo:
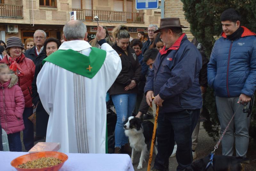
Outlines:
[[[42, 53], [42, 52], [41, 52]], [[39, 54], [40, 55], [40, 54]], [[39, 94], [37, 93], [36, 78], [42, 69], [43, 64], [36, 66], [35, 76], [32, 82], [32, 102], [36, 107], [36, 136], [46, 136], [46, 130], [49, 120], [49, 114], [44, 110], [40, 101]]]

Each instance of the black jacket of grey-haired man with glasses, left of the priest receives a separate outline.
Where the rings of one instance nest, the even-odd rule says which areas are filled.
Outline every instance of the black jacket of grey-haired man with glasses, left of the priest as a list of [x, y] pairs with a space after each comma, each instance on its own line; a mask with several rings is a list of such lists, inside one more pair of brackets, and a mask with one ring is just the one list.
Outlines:
[[45, 49], [43, 49], [43, 51], [39, 53], [38, 56], [36, 56], [36, 46], [25, 51], [25, 56], [31, 59], [34, 62], [35, 66], [40, 65], [42, 63], [42, 60], [47, 57]]

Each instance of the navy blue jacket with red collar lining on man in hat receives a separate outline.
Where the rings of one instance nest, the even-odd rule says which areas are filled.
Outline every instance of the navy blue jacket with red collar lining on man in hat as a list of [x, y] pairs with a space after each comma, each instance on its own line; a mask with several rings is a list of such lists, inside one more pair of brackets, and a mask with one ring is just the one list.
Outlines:
[[159, 113], [200, 109], [202, 96], [199, 72], [202, 56], [183, 33], [168, 50], [158, 53], [150, 70], [144, 92], [152, 90], [164, 100]]

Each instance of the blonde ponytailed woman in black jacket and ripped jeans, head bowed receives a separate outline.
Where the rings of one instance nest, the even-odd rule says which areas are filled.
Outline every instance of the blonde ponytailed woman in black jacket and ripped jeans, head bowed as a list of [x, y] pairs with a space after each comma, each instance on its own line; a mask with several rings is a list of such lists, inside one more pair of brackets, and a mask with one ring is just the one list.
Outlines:
[[115, 105], [117, 122], [115, 129], [115, 153], [131, 153], [128, 137], [124, 135], [124, 121], [132, 115], [138, 93], [141, 66], [135, 51], [129, 46], [130, 34], [124, 25], [113, 29], [112, 36], [116, 41], [113, 49], [122, 62], [122, 70], [109, 89]]

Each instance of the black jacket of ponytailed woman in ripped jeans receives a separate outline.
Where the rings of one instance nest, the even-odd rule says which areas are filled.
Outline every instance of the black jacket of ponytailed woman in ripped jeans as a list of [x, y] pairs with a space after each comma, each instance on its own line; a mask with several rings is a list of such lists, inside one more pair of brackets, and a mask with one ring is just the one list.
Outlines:
[[127, 94], [127, 93], [138, 93], [138, 86], [130, 89], [128, 91], [124, 90], [124, 87], [129, 85], [132, 80], [135, 80], [136, 84], [140, 82], [141, 66], [139, 59], [136, 56], [135, 51], [127, 47], [128, 56], [125, 52], [118, 47], [116, 44], [113, 46], [113, 49], [118, 53], [122, 62], [122, 70], [117, 76], [116, 81], [109, 89], [109, 94]]

